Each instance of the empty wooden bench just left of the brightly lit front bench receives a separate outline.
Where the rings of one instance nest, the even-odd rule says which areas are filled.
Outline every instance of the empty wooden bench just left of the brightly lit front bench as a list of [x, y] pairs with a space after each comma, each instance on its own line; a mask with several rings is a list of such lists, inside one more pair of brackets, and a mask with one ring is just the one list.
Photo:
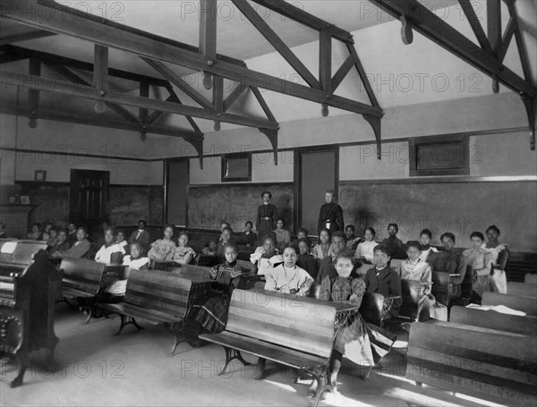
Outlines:
[[119, 314], [121, 325], [116, 335], [124, 327], [132, 324], [143, 329], [136, 319], [144, 319], [153, 324], [169, 324], [175, 334], [172, 355], [183, 340], [184, 317], [198, 295], [206, 293], [212, 281], [206, 276], [170, 273], [167, 271], [131, 270], [127, 279], [124, 301], [115, 304], [99, 303], [99, 307]]

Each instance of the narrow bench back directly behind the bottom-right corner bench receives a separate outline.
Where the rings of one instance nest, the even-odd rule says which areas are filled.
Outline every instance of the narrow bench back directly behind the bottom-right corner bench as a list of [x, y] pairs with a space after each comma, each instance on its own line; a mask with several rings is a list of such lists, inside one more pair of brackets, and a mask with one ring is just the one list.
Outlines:
[[537, 317], [502, 314], [455, 305], [451, 308], [449, 321], [469, 326], [497, 329], [522, 335], [537, 336]]

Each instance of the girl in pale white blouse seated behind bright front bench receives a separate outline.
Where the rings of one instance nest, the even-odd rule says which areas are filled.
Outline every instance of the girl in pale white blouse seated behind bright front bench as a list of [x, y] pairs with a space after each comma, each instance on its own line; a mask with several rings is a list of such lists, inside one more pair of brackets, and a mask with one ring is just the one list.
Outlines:
[[294, 246], [288, 245], [282, 257], [284, 262], [265, 275], [265, 290], [305, 297], [310, 293], [313, 278], [306, 270], [296, 266], [298, 256]]

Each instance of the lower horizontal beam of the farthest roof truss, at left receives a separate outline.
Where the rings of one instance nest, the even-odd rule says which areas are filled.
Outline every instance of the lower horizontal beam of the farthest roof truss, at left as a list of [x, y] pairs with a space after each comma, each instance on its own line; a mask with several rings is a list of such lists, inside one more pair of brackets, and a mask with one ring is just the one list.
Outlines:
[[[3, 114], [27, 116], [30, 114], [30, 109], [28, 107], [13, 106], [6, 103], [2, 103], [0, 104], [0, 112], [2, 112]], [[58, 109], [39, 109], [38, 113], [36, 114], [36, 118], [42, 120], [53, 120], [55, 122], [78, 123], [90, 126], [107, 127], [111, 129], [136, 131], [137, 133], [141, 130], [140, 124], [137, 123], [117, 121], [97, 114], [95, 116], [91, 116], [88, 114], [66, 113]], [[187, 141], [203, 140], [203, 133], [201, 132], [186, 131], [166, 126], [151, 125], [148, 127], [148, 132], [153, 134], [162, 134], [164, 136], [179, 137]]]

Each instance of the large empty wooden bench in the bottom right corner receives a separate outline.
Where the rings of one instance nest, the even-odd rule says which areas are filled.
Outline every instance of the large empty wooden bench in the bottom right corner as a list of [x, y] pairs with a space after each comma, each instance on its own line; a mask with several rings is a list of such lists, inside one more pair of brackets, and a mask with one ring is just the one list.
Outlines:
[[406, 359], [406, 377], [419, 386], [425, 383], [506, 405], [537, 403], [535, 336], [415, 322]]

